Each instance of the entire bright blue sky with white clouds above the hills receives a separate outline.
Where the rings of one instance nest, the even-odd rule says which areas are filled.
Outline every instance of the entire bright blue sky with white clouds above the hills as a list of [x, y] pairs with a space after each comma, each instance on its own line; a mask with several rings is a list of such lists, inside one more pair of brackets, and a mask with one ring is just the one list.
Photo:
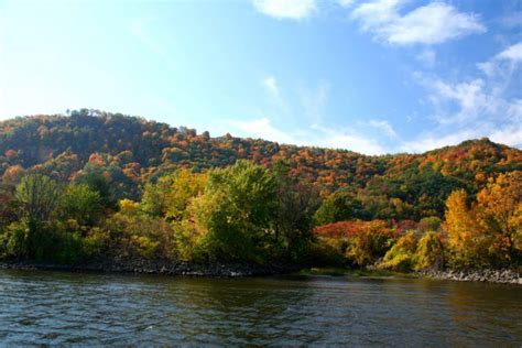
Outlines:
[[95, 108], [367, 154], [522, 145], [522, 0], [0, 0], [0, 119]]

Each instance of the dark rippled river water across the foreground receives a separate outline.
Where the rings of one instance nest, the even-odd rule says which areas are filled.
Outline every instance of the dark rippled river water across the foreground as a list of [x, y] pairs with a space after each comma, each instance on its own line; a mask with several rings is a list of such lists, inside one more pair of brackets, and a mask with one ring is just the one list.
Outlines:
[[522, 346], [522, 287], [0, 271], [0, 346]]

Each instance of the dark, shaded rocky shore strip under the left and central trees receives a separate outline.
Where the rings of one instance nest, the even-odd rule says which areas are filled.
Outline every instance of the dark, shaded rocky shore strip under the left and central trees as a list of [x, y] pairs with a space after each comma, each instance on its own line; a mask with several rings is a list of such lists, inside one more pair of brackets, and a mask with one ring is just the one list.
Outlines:
[[0, 269], [14, 270], [47, 270], [67, 272], [102, 272], [102, 273], [134, 273], [165, 274], [192, 276], [252, 276], [270, 275], [290, 272], [289, 268], [280, 265], [255, 267], [239, 263], [200, 264], [184, 261], [152, 261], [152, 260], [93, 260], [86, 263], [64, 265], [55, 263], [35, 263], [28, 261], [6, 261]]

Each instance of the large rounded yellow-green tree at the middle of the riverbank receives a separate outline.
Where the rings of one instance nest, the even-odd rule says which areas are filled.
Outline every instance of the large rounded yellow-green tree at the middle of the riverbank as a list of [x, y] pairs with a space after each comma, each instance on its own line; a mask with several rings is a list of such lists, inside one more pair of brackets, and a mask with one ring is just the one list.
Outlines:
[[267, 168], [238, 161], [211, 171], [205, 195], [193, 203], [199, 247], [210, 258], [265, 263], [276, 206], [276, 183]]

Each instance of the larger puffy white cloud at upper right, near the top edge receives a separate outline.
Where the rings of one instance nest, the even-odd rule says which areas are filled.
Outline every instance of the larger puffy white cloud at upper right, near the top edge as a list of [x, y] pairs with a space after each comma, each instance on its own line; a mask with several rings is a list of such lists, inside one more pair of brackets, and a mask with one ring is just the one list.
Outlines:
[[351, 12], [351, 18], [358, 20], [362, 30], [373, 33], [378, 40], [395, 45], [441, 44], [486, 32], [475, 13], [458, 12], [453, 6], [437, 1], [401, 15], [399, 10], [404, 2], [366, 2]]

